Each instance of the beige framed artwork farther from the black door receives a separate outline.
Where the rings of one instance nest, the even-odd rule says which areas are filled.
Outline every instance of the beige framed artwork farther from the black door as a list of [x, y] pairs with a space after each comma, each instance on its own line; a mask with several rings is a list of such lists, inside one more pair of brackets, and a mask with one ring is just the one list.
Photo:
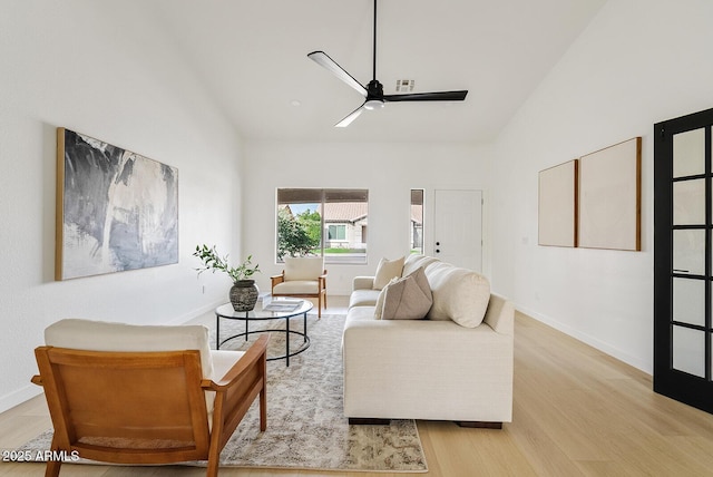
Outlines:
[[537, 243], [577, 246], [577, 159], [539, 172]]

